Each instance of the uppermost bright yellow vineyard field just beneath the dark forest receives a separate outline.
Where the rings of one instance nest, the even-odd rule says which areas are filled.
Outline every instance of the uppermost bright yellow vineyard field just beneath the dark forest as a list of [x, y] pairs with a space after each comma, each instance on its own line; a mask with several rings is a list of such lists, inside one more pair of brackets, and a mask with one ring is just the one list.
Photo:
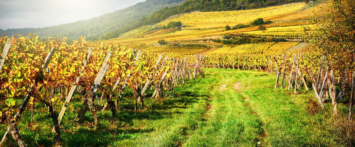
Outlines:
[[294, 13], [301, 10], [304, 6], [304, 3], [296, 3], [254, 10], [189, 13], [161, 22], [158, 26], [167, 25], [169, 22], [182, 22], [183, 24], [190, 26], [185, 27], [184, 29], [220, 28], [225, 27], [226, 25], [234, 26], [237, 24], [247, 24], [257, 18], [267, 18], [278, 16], [280, 14]]

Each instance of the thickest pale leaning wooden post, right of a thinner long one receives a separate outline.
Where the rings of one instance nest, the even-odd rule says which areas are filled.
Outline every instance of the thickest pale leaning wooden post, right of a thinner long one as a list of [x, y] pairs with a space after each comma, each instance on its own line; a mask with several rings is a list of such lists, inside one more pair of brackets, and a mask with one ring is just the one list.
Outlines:
[[[98, 74], [96, 75], [96, 78], [95, 78], [95, 80], [94, 80], [94, 83], [93, 83], [93, 85], [91, 86], [91, 92], [92, 92], [92, 93], [96, 93], [97, 89], [98, 89], [99, 86], [100, 86], [100, 83], [101, 83], [102, 79], [104, 78], [104, 75], [105, 75], [105, 73], [106, 73], [106, 71], [107, 71], [107, 68], [108, 68], [108, 66], [109, 66], [109, 65], [107, 64], [107, 61], [110, 59], [111, 53], [112, 53], [111, 50], [107, 53], [107, 55], [106, 55], [106, 57], [105, 57], [105, 60], [104, 60], [104, 62], [102, 63], [102, 66], [101, 66], [101, 68], [100, 68]], [[90, 99], [90, 98], [88, 98], [88, 99]], [[78, 121], [79, 123], [82, 123], [82, 120], [83, 120], [83, 118], [84, 118], [84, 115], [86, 114], [86, 111], [87, 111], [87, 109], [89, 108], [89, 107], [88, 107], [88, 99], [85, 99], [83, 105], [81, 106], [81, 108], [80, 108], [78, 114], [77, 114], [76, 117], [75, 117], [75, 120]], [[95, 125], [97, 125], [97, 118], [95, 118]]]

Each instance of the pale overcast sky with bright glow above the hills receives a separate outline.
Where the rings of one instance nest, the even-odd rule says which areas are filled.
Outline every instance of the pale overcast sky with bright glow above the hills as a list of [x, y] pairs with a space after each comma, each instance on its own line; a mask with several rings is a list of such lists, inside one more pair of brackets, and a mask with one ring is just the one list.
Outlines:
[[142, 1], [146, 0], [0, 0], [0, 29], [71, 23]]

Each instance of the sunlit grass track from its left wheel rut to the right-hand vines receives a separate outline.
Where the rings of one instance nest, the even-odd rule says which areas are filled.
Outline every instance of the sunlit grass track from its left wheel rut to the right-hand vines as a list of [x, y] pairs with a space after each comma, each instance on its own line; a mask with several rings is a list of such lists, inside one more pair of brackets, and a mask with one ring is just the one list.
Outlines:
[[[263, 72], [205, 69], [205, 73], [217, 81], [212, 106], [185, 146], [343, 146], [329, 133], [329, 109], [315, 115], [306, 111], [311, 92], [274, 89], [275, 76]], [[239, 85], [240, 90], [233, 88]]]

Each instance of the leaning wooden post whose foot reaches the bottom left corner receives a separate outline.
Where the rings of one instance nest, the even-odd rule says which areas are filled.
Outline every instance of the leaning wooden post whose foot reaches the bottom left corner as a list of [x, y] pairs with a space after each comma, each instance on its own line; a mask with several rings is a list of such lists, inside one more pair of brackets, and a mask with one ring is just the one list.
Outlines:
[[[44, 73], [44, 70], [47, 68], [50, 60], [52, 59], [52, 56], [55, 52], [55, 49], [52, 47], [51, 50], [49, 51], [49, 53], [47, 54], [47, 57], [44, 60], [44, 63], [42, 65], [42, 70], [39, 72], [40, 75], [42, 75]], [[27, 91], [27, 95], [25, 96], [25, 98], [23, 99], [21, 105], [20, 105], [20, 111], [16, 112], [15, 114], [15, 121], [17, 121], [20, 118], [20, 115], [22, 114], [22, 112], [24, 111], [24, 109], [27, 106], [27, 103], [29, 101], [29, 99], [31, 98], [30, 93], [32, 92], [32, 90], [34, 89], [34, 87], [38, 84], [38, 82], [41, 80], [40, 76], [38, 76], [38, 78], [35, 79], [34, 85], [32, 84], [31, 87], [29, 87], [28, 91]], [[4, 142], [6, 142], [7, 138], [10, 135], [10, 126], [7, 128], [5, 135], [2, 137], [1, 142], [0, 142], [0, 146], [2, 146]]]

